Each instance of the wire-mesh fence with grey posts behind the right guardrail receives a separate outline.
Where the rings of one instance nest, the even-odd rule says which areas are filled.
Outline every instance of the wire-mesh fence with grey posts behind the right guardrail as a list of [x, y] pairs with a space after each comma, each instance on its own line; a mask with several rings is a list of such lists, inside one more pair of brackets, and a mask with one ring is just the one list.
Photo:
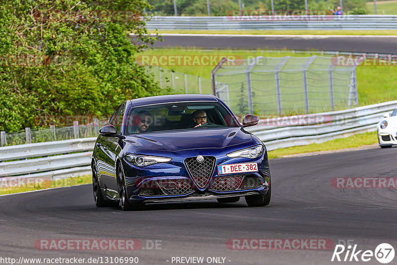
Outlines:
[[222, 60], [211, 73], [216, 95], [235, 114], [288, 115], [358, 106], [356, 66], [334, 58]]

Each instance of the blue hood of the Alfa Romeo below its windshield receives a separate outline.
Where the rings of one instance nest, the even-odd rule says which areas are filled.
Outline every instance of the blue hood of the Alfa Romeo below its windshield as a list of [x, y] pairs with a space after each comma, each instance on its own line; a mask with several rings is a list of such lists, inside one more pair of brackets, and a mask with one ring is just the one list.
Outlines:
[[126, 141], [144, 150], [182, 151], [196, 148], [223, 148], [251, 140], [240, 127], [200, 128], [126, 136]]

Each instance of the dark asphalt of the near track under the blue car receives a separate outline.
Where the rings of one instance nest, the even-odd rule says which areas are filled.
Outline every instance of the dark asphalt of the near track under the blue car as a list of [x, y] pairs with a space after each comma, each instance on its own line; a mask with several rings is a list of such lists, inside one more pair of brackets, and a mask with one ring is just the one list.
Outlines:
[[[375, 148], [272, 159], [272, 200], [267, 207], [248, 207], [244, 199], [227, 204], [208, 200], [123, 212], [96, 208], [90, 185], [1, 196], [0, 257], [138, 257], [142, 265], [182, 264], [172, 262], [173, 257], [204, 257], [200, 264], [364, 264], [331, 262], [333, 245], [326, 250], [231, 250], [227, 242], [327, 239], [333, 244], [350, 240], [363, 251], [375, 251], [380, 243], [396, 249], [396, 188], [331, 186], [335, 177], [396, 177], [396, 152], [397, 148]], [[43, 239], [139, 239], [143, 245], [132, 251], [41, 250], [36, 245], [37, 249], [35, 242]], [[225, 260], [207, 263], [208, 257]], [[372, 257], [365, 264], [380, 263]]]

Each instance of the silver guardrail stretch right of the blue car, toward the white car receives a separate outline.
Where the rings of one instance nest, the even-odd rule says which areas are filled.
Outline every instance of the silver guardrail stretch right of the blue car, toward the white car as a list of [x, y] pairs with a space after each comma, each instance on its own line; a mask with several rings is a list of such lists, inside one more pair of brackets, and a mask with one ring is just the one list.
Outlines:
[[[375, 131], [383, 114], [394, 110], [396, 105], [397, 100], [342, 111], [302, 115], [304, 119], [305, 117], [312, 118], [307, 119], [308, 122], [304, 126], [291, 126], [288, 124], [275, 126], [264, 125], [266, 123], [268, 124], [269, 121], [271, 123], [281, 124], [283, 121], [291, 121], [293, 117], [299, 118], [299, 116], [278, 117], [261, 120], [259, 127], [248, 128], [247, 131], [254, 133], [264, 141], [267, 150], [320, 143], [356, 133]], [[316, 120], [322, 120], [324, 123], [316, 125]]]

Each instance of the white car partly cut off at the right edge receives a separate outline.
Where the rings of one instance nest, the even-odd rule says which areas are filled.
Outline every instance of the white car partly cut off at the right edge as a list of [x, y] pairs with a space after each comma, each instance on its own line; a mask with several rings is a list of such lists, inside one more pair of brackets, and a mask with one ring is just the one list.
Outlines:
[[392, 115], [385, 112], [383, 120], [378, 123], [378, 141], [382, 148], [392, 147], [397, 144], [397, 107]]

